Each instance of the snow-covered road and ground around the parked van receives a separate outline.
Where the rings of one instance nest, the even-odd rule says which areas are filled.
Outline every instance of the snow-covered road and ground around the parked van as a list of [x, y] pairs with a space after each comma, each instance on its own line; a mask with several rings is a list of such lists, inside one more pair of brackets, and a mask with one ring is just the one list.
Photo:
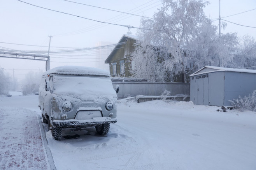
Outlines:
[[[41, 115], [38, 95], [2, 96], [0, 106]], [[119, 100], [107, 135], [90, 128], [65, 130], [61, 141], [47, 130], [46, 137], [57, 170], [255, 170], [256, 113], [217, 109]]]

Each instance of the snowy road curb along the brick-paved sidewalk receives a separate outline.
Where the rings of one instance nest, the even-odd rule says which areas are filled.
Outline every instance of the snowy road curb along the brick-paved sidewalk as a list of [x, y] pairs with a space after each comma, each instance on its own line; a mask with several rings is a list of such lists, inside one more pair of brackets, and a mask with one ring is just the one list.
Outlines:
[[53, 161], [53, 156], [52, 156], [51, 150], [48, 146], [48, 141], [46, 139], [46, 132], [44, 130], [44, 126], [42, 125], [42, 121], [41, 121], [41, 118], [40, 118], [39, 115], [37, 115], [37, 118], [38, 118], [38, 122], [39, 122], [39, 125], [40, 125], [42, 140], [44, 142], [44, 147], [46, 149], [46, 155], [47, 155], [47, 159], [48, 159], [50, 168], [51, 168], [51, 170], [56, 170], [56, 167], [55, 167], [54, 161]]

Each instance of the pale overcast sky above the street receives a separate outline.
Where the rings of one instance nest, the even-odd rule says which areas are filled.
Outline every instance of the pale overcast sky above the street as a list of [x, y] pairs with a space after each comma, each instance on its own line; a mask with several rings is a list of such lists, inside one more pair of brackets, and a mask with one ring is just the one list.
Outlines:
[[[57, 10], [81, 16], [88, 19], [103, 21], [108, 23], [140, 26], [139, 16], [122, 14], [96, 7], [128, 12], [140, 16], [153, 17], [154, 12], [161, 7], [160, 0], [70, 0], [87, 5], [67, 2], [65, 0], [22, 0], [40, 7]], [[219, 0], [209, 0], [210, 4], [205, 8], [205, 15], [210, 19], [219, 17]], [[128, 32], [128, 28], [123, 26], [98, 23], [81, 17], [41, 9], [18, 0], [1, 0], [1, 27], [0, 27], [0, 50], [48, 50], [49, 36], [51, 38], [50, 50], [65, 49], [55, 47], [87, 48], [106, 43], [117, 43], [123, 34]], [[247, 10], [256, 8], [256, 0], [221, 0], [221, 17], [230, 16]], [[256, 10], [224, 18], [227, 21], [256, 27]], [[237, 32], [238, 36], [251, 35], [256, 38], [256, 28], [228, 24], [223, 33]], [[218, 21], [214, 22], [215, 25]], [[130, 29], [133, 35], [136, 29]], [[100, 43], [101, 42], [101, 43]], [[15, 44], [10, 44], [15, 43]], [[16, 45], [23, 44], [23, 45]], [[25, 45], [37, 45], [25, 46]], [[38, 47], [45, 46], [45, 47]], [[111, 47], [113, 49], [113, 47]], [[111, 50], [104, 49], [103, 51]], [[51, 68], [63, 65], [78, 65], [97, 67], [94, 61], [104, 62], [104, 59], [96, 57], [96, 50], [91, 49], [83, 53], [61, 54], [51, 56]], [[73, 59], [70, 59], [71, 56]], [[107, 56], [106, 56], [107, 57]], [[80, 58], [80, 59], [78, 59]], [[94, 59], [96, 58], [96, 59]], [[33, 61], [25, 59], [8, 59], [0, 57], [0, 67], [16, 78], [24, 78], [28, 71], [38, 71], [45, 69], [44, 61]], [[106, 68], [106, 67], [105, 67]], [[26, 70], [24, 70], [26, 69]]]

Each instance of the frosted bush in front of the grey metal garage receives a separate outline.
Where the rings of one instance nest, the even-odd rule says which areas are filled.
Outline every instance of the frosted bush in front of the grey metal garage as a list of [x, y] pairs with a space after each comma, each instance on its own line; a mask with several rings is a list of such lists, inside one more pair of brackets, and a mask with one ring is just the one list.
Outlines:
[[238, 108], [241, 111], [252, 110], [256, 111], [256, 90], [254, 90], [249, 96], [238, 97], [238, 99], [233, 99], [231, 105]]

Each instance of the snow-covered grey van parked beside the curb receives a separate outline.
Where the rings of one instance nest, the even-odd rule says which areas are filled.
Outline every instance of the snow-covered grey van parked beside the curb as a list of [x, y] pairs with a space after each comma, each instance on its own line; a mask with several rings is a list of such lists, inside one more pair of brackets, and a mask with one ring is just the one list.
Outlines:
[[43, 123], [61, 140], [62, 129], [95, 127], [105, 135], [116, 123], [117, 95], [109, 71], [82, 66], [61, 66], [42, 74], [39, 107]]

